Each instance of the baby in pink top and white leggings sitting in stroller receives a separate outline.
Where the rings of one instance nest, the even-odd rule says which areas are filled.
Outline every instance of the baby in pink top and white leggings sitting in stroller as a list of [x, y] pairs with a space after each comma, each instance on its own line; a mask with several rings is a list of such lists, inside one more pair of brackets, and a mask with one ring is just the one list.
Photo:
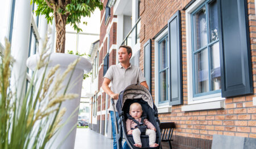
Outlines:
[[[131, 104], [129, 114], [135, 120], [137, 120], [138, 122], [141, 122], [141, 115], [142, 115], [141, 104], [139, 104], [137, 102]], [[144, 123], [144, 125], [147, 126], [146, 135], [148, 135], [150, 147], [159, 146], [157, 143], [155, 143], [156, 129], [155, 129], [154, 125], [152, 125], [152, 123], [150, 121], [148, 121], [147, 119], [144, 119], [143, 123]], [[126, 121], [127, 134], [133, 135], [133, 140], [135, 142], [134, 146], [142, 147], [141, 131], [138, 128], [135, 129], [135, 126], [137, 126], [137, 123], [135, 123], [132, 119], [127, 119], [127, 121]], [[131, 130], [131, 129], [133, 129], [133, 130]]]

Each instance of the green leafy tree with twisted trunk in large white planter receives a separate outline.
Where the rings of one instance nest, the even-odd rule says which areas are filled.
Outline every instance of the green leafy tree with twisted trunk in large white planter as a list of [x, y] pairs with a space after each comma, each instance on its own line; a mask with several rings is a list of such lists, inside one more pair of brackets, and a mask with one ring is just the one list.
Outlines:
[[[81, 16], [89, 16], [97, 8], [103, 9], [100, 0], [31, 0], [38, 5], [36, 15], [46, 15], [47, 22], [55, 18], [56, 23], [56, 52], [65, 52], [65, 26], [71, 24], [79, 32]], [[86, 24], [86, 22], [83, 22]]]

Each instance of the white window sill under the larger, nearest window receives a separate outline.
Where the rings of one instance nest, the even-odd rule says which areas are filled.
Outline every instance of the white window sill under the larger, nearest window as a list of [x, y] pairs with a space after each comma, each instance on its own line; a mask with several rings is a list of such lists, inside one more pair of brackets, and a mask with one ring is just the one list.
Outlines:
[[197, 111], [197, 110], [212, 110], [224, 109], [225, 100], [205, 102], [201, 104], [185, 105], [181, 107], [181, 111]]

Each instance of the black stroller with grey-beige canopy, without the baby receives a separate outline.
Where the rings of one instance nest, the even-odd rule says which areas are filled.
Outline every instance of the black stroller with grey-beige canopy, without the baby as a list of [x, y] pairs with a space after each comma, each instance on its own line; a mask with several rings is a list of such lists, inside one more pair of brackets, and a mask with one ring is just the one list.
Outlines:
[[[119, 98], [117, 101], [117, 111], [119, 114], [119, 121], [117, 122], [117, 118], [115, 117], [115, 130], [117, 130], [117, 147], [119, 147], [119, 140], [121, 139], [121, 128], [123, 130], [123, 134], [126, 139], [126, 143], [130, 148], [138, 148], [134, 146], [134, 140], [132, 135], [128, 135], [126, 131], [126, 120], [128, 118], [127, 113], [129, 113], [130, 105], [134, 102], [138, 102], [142, 106], [144, 117], [148, 119], [152, 123], [152, 125], [156, 128], [156, 141], [155, 143], [159, 144], [158, 147], [149, 147], [148, 146], [148, 136], [141, 135], [142, 148], [159, 148], [161, 146], [161, 133], [160, 133], [160, 121], [158, 119], [158, 110], [152, 100], [152, 96], [147, 88], [139, 84], [133, 84], [126, 87], [119, 94]], [[114, 101], [112, 99], [112, 106], [115, 114]], [[114, 135], [114, 134], [113, 134]]]

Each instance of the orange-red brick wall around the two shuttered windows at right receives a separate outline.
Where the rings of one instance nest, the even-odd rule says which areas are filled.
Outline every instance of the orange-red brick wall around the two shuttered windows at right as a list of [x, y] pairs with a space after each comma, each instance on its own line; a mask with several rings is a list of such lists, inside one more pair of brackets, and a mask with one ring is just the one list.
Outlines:
[[[141, 1], [141, 57], [140, 67], [143, 69], [143, 45], [152, 39], [177, 10], [181, 10], [182, 68], [183, 68], [183, 105], [188, 104], [187, 93], [187, 41], [185, 31], [185, 11], [183, 7], [189, 1]], [[253, 67], [254, 93], [256, 93], [256, 20], [253, 0], [248, 0], [249, 30], [251, 43], [251, 60]], [[158, 7], [155, 7], [158, 6]], [[154, 95], [154, 40], [152, 40], [152, 96]], [[213, 134], [245, 136], [256, 138], [256, 107], [254, 96], [227, 98], [225, 109], [203, 111], [181, 111], [181, 106], [172, 106], [171, 113], [159, 114], [161, 122], [176, 123], [174, 135], [192, 138], [212, 139]]]

